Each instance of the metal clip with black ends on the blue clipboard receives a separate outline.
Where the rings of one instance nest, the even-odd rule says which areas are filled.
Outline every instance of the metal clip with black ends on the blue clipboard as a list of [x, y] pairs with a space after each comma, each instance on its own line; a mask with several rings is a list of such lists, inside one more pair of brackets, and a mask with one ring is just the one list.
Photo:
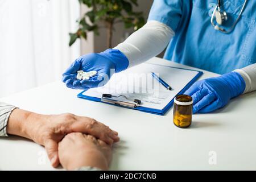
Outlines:
[[[113, 97], [114, 98], [124, 97], [127, 101], [131, 101], [131, 102], [114, 100]], [[101, 101], [107, 102], [110, 104], [131, 107], [131, 108], [138, 107], [141, 104], [141, 100], [135, 99], [132, 101], [129, 98], [127, 98], [126, 96], [123, 96], [123, 95], [113, 96], [112, 94], [102, 94]]]

